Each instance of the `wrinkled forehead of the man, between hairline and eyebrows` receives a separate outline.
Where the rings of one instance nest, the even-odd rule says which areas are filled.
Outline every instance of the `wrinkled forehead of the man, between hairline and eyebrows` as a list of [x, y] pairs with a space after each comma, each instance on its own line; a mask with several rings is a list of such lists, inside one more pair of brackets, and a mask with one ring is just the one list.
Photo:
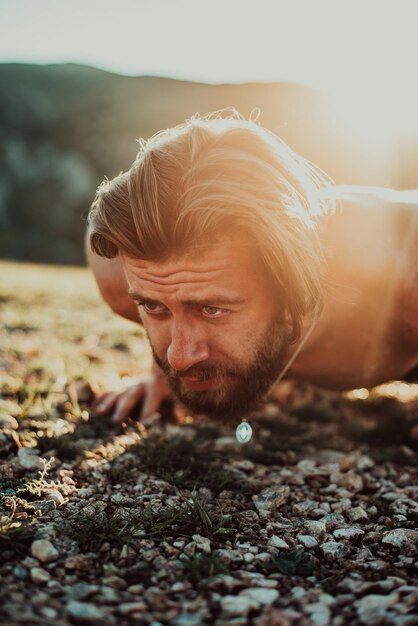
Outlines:
[[175, 292], [224, 287], [247, 291], [267, 281], [255, 246], [240, 237], [225, 237], [164, 261], [122, 256], [130, 287]]

